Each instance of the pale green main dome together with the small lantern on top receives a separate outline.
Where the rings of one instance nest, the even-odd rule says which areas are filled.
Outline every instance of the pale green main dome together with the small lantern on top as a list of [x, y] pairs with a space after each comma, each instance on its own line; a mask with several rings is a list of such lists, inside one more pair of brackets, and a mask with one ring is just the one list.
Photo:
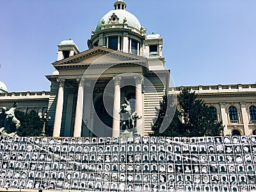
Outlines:
[[111, 10], [100, 19], [97, 27], [95, 28], [95, 32], [100, 29], [124, 27], [134, 29], [137, 33], [141, 33], [141, 29], [143, 28], [141, 28], [140, 21], [132, 13], [125, 10], [126, 4], [124, 1], [116, 1], [114, 8], [115, 10]]

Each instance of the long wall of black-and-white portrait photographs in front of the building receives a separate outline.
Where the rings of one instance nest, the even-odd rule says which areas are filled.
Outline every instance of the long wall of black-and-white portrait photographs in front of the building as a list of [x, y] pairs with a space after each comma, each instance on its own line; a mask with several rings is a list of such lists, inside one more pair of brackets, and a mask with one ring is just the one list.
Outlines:
[[0, 138], [0, 188], [255, 191], [256, 138]]

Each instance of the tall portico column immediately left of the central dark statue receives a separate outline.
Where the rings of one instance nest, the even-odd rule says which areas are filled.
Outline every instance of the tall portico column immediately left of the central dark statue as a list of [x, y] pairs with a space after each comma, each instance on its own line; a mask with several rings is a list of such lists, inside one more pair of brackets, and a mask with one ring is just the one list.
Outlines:
[[120, 135], [120, 108], [121, 108], [121, 92], [120, 92], [120, 84], [121, 77], [116, 76], [113, 78], [115, 81], [115, 91], [114, 91], [114, 108], [113, 108], [113, 137], [119, 137]]

